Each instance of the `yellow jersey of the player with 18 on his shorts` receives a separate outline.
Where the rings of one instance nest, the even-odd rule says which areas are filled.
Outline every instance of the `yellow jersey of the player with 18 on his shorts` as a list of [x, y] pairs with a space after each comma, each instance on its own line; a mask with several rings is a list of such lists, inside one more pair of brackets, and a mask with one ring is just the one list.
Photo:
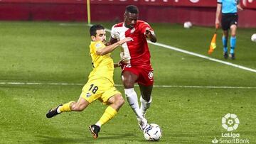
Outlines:
[[92, 57], [93, 70], [90, 72], [89, 79], [92, 77], [106, 77], [114, 84], [114, 62], [110, 57], [110, 53], [106, 55], [97, 55], [96, 51], [105, 48], [106, 45], [101, 41], [90, 43], [90, 56]]

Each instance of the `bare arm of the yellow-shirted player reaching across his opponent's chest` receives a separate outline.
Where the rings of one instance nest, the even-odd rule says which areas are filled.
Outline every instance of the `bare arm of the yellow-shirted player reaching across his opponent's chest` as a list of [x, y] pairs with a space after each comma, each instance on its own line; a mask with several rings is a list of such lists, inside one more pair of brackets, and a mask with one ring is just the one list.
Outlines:
[[96, 54], [97, 55], [106, 55], [107, 53], [110, 53], [112, 52], [115, 48], [117, 48], [119, 45], [122, 45], [123, 43], [126, 43], [128, 41], [132, 41], [132, 38], [130, 37], [127, 37], [127, 38], [124, 38], [120, 41], [118, 41], [117, 43], [114, 43], [112, 45], [108, 45], [106, 46], [105, 48], [102, 48], [102, 49], [99, 49], [96, 51]]

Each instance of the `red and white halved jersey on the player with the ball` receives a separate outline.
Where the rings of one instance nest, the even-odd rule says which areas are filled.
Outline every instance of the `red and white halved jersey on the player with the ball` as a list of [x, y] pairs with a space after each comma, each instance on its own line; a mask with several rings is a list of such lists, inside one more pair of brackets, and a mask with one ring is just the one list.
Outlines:
[[112, 27], [112, 38], [122, 40], [130, 37], [133, 39], [131, 42], [122, 44], [122, 52], [120, 54], [124, 62], [131, 66], [150, 65], [150, 52], [145, 35], [146, 29], [154, 33], [149, 23], [139, 20], [132, 29], [125, 27], [124, 22], [117, 23]]

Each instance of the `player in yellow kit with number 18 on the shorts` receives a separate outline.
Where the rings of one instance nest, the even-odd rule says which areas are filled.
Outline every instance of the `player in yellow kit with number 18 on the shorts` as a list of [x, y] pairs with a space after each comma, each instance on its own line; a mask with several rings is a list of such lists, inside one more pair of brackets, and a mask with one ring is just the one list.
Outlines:
[[131, 41], [132, 38], [124, 38], [117, 43], [106, 46], [106, 31], [101, 25], [92, 26], [90, 28], [90, 35], [92, 38], [90, 56], [92, 57], [93, 70], [90, 72], [87, 83], [82, 88], [80, 98], [77, 102], [70, 101], [67, 104], [60, 104], [50, 109], [46, 113], [46, 117], [51, 118], [66, 111], [82, 111], [92, 101], [98, 99], [102, 104], [107, 104], [108, 107], [100, 120], [94, 125], [89, 126], [93, 138], [97, 138], [100, 127], [117, 115], [117, 111], [124, 104], [122, 94], [114, 87], [113, 81], [114, 67], [118, 67], [119, 64], [114, 65], [110, 52], [119, 45]]

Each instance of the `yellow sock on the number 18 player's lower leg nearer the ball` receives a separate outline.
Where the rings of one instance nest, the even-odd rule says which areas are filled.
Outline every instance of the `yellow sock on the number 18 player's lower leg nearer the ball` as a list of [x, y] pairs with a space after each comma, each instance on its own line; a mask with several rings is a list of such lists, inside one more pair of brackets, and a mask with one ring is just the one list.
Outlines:
[[117, 115], [117, 111], [113, 109], [111, 106], [107, 106], [107, 109], [103, 113], [102, 117], [99, 121], [97, 121], [97, 126], [102, 126], [103, 124], [107, 123], [107, 121], [110, 121], [110, 119], [114, 118], [114, 116]]

